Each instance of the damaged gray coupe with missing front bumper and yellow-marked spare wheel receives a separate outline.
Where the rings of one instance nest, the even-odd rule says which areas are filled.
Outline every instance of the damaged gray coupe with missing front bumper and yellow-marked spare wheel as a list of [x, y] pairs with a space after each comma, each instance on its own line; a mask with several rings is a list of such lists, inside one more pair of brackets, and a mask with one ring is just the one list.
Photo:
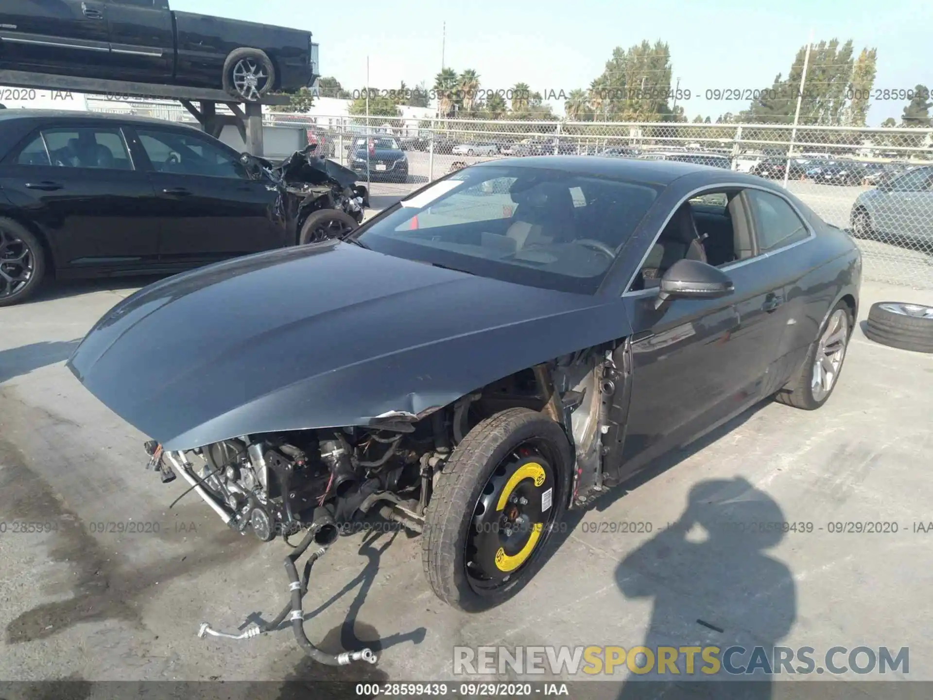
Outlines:
[[422, 533], [434, 591], [494, 606], [568, 508], [770, 397], [822, 406], [858, 307], [852, 240], [753, 175], [542, 156], [429, 184], [341, 240], [120, 302], [69, 366], [225, 522], [304, 532], [286, 615], [341, 525]]

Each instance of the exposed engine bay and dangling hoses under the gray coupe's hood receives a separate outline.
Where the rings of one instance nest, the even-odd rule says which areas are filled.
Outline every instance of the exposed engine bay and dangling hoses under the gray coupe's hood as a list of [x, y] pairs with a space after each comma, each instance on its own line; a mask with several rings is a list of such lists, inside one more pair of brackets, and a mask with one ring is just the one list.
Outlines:
[[[245, 435], [164, 453], [155, 441], [147, 442], [150, 466], [161, 472], [162, 481], [181, 474], [189, 490], [242, 534], [288, 542], [305, 531], [286, 558], [291, 600], [282, 614], [241, 634], [217, 632], [202, 623], [200, 636], [255, 637], [275, 629], [290, 612], [299, 645], [315, 660], [375, 663], [369, 650], [328, 655], [305, 637], [300, 596], [307, 591], [314, 561], [341, 533], [349, 534], [369, 516], [422, 532], [432, 493], [445, 478], [443, 466], [457, 445], [480, 421], [509, 408], [531, 409], [564, 428], [577, 461], [565, 496], [578, 505], [597, 497], [604, 483], [612, 482], [612, 475], [603, 473], [603, 459], [613, 443], [620, 443], [618, 412], [623, 407], [617, 399], [627, 394], [617, 391], [617, 383], [621, 387], [624, 381], [614, 357], [627, 352], [627, 346], [580, 351], [510, 375], [449, 406], [421, 415], [386, 414], [378, 426]], [[511, 525], [503, 521], [503, 526], [508, 530]], [[318, 549], [299, 579], [295, 561], [312, 545]]]

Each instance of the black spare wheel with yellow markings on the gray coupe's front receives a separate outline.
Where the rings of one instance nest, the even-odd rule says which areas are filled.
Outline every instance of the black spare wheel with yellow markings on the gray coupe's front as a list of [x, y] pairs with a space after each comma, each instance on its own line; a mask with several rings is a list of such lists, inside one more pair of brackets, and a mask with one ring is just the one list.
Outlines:
[[562, 521], [573, 456], [564, 429], [508, 409], [467, 433], [425, 513], [422, 560], [435, 594], [454, 608], [493, 608], [543, 563]]

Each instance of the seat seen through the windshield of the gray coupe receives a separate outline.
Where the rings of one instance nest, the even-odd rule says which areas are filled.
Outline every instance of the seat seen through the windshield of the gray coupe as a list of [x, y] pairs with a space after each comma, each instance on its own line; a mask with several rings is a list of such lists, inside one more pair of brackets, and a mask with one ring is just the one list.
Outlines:
[[506, 236], [515, 241], [517, 250], [573, 240], [574, 200], [565, 185], [541, 183], [513, 192], [512, 200], [518, 208]]

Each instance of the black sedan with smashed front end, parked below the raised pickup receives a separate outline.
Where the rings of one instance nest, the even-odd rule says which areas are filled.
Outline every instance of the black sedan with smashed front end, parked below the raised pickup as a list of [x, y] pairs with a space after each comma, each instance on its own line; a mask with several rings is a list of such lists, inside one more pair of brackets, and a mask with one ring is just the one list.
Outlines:
[[299, 151], [276, 166], [160, 119], [0, 111], [0, 306], [43, 277], [168, 274], [342, 235], [368, 199]]

